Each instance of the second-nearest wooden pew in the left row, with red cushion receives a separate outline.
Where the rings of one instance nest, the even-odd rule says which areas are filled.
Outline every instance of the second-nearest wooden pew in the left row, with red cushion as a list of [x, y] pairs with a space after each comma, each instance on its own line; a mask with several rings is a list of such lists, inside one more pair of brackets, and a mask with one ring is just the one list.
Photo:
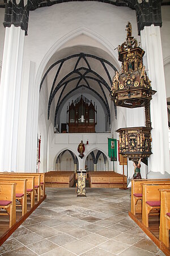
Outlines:
[[16, 200], [20, 201], [20, 205], [16, 204], [16, 206], [22, 206], [22, 216], [27, 213], [27, 180], [26, 179], [16, 179], [12, 177], [0, 177], [1, 183], [16, 183]]

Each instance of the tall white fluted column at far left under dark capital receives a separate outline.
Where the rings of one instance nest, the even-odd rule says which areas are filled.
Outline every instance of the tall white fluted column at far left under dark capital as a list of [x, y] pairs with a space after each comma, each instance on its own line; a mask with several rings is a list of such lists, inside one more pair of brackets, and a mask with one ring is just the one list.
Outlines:
[[6, 27], [0, 86], [0, 170], [17, 171], [18, 123], [25, 31]]

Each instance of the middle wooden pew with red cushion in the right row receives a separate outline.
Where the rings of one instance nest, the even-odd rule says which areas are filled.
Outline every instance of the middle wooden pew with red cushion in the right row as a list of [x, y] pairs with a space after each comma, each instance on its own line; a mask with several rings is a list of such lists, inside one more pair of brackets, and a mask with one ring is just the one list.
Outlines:
[[170, 184], [142, 184], [142, 223], [148, 228], [148, 214], [152, 209], [160, 209], [159, 189], [169, 189]]

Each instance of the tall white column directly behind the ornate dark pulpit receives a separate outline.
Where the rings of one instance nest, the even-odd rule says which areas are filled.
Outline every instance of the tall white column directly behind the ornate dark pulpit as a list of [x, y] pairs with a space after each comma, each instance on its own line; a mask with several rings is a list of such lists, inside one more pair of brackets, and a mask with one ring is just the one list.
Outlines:
[[141, 31], [144, 64], [148, 69], [152, 89], [157, 93], [151, 101], [152, 155], [148, 159], [148, 171], [170, 172], [168, 148], [168, 115], [165, 92], [164, 66], [160, 27], [151, 25]]

